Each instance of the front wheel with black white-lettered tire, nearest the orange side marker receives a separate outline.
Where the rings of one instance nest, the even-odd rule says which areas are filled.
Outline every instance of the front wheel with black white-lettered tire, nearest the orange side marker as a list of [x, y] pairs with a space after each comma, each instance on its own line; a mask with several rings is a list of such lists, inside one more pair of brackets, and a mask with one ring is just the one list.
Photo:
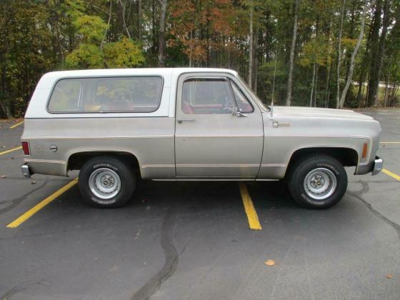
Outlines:
[[[326, 194], [319, 194], [317, 191], [321, 185], [324, 187], [325, 182], [329, 182]], [[334, 157], [315, 154], [296, 162], [289, 174], [288, 186], [291, 196], [301, 206], [309, 209], [327, 209], [338, 203], [346, 193], [347, 174]], [[313, 190], [314, 188], [316, 190]]]

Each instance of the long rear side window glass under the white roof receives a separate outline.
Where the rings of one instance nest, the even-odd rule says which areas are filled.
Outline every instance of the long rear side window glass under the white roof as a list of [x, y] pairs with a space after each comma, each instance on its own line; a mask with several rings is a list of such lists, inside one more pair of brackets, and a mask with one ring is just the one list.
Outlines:
[[61, 79], [54, 86], [50, 112], [151, 112], [159, 108], [158, 76]]

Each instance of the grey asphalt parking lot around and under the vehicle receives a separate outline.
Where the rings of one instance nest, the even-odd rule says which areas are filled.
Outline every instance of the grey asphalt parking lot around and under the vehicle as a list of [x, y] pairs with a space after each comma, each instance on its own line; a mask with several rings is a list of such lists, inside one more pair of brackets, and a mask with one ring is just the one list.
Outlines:
[[24, 125], [1, 123], [0, 299], [400, 299], [400, 109], [365, 113], [385, 172], [349, 168], [324, 211], [280, 182], [142, 181], [128, 206], [91, 208], [59, 191], [76, 173], [25, 179]]

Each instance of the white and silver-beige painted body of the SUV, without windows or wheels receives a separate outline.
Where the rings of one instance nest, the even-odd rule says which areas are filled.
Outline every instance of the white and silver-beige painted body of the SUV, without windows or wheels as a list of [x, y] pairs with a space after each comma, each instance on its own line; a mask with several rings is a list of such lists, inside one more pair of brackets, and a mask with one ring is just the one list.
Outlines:
[[[161, 76], [159, 108], [151, 113], [68, 114], [46, 109], [57, 81], [94, 76]], [[254, 112], [184, 114], [183, 81], [219, 76], [241, 87]], [[115, 152], [134, 156], [144, 179], [278, 180], [302, 149], [349, 149], [356, 157], [355, 174], [369, 173], [380, 134], [379, 122], [354, 111], [266, 108], [236, 71], [228, 69], [107, 69], [45, 74], [26, 111], [21, 140], [29, 141], [30, 155], [24, 161], [31, 174], [68, 176], [74, 154]]]

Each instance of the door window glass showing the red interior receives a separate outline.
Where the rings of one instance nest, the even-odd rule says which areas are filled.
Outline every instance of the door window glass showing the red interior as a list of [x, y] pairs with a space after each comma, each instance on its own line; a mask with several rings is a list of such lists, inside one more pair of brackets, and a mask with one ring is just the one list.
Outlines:
[[219, 78], [189, 78], [182, 89], [184, 114], [231, 114], [235, 106], [229, 81]]

